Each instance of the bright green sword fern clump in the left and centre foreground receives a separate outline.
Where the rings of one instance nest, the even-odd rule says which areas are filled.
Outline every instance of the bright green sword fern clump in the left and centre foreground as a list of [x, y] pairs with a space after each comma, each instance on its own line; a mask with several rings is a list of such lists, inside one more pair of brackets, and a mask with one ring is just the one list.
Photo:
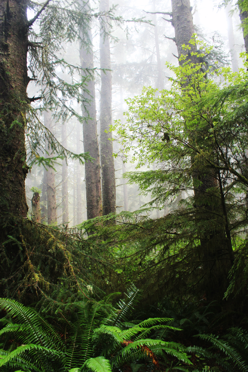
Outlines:
[[[54, 325], [31, 308], [14, 300], [0, 299], [0, 309], [6, 312], [0, 331], [4, 372], [12, 367], [39, 372], [81, 369], [109, 372], [142, 360], [158, 366], [157, 358], [165, 359], [167, 354], [173, 358], [172, 362], [180, 360], [190, 364], [183, 345], [157, 338], [160, 330], [178, 330], [166, 324], [171, 319], [149, 318], [136, 324], [121, 322], [137, 294], [133, 286], [126, 302], [122, 301], [121, 310], [115, 313], [112, 310], [110, 316], [106, 316], [103, 302], [79, 302], [73, 310], [70, 306], [70, 317], [57, 316]], [[68, 306], [65, 309], [68, 310]], [[117, 319], [118, 327], [114, 325]], [[20, 343], [24, 344], [19, 346]]]

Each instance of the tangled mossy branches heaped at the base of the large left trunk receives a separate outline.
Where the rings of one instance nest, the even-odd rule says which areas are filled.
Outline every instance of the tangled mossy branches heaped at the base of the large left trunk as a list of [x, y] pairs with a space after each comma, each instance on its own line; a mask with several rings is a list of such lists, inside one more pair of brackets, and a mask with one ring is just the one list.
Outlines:
[[53, 312], [64, 302], [88, 298], [92, 291], [99, 296], [101, 290], [92, 281], [103, 270], [105, 259], [94, 246], [77, 234], [27, 219], [2, 218], [1, 224], [2, 297], [28, 305], [35, 302]]

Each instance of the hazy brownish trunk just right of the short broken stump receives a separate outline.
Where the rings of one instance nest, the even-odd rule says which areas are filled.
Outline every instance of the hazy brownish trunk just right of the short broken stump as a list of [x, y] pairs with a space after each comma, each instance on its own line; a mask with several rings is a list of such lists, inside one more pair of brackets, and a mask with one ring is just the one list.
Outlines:
[[[44, 124], [50, 131], [52, 131], [51, 111], [44, 113]], [[48, 144], [46, 150], [49, 156], [51, 156], [52, 151]], [[55, 224], [57, 222], [55, 171], [51, 167], [48, 167], [47, 170], [47, 219], [48, 225]]]

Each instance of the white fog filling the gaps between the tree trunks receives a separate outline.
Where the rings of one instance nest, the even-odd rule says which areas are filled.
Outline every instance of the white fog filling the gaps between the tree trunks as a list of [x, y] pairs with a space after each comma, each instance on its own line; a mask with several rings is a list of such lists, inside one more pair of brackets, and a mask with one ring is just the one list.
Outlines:
[[[93, 8], [93, 12], [98, 11], [99, 4], [97, 2], [92, 2], [90, 5]], [[110, 4], [110, 7], [113, 5], [115, 4]], [[191, 13], [193, 15], [195, 33], [200, 40], [204, 38], [209, 45], [214, 46], [215, 43], [218, 42], [223, 54], [227, 57], [227, 62], [231, 65], [231, 56], [233, 56], [234, 49], [237, 56], [239, 56], [242, 51], [245, 51], [240, 18], [237, 10], [233, 7], [234, 13], [230, 15], [230, 17], [232, 17], [233, 22], [235, 45], [231, 54], [230, 41], [228, 38], [227, 12], [224, 7], [220, 8], [218, 5], [219, 3], [217, 1], [199, 0], [194, 3], [191, 1]], [[154, 15], [151, 12], [158, 13]], [[124, 112], [127, 110], [125, 100], [141, 94], [143, 86], [157, 88], [158, 92], [161, 89], [168, 89], [171, 86], [169, 77], [172, 77], [173, 73], [168, 66], [166, 66], [166, 62], [174, 65], [178, 64], [177, 46], [175, 42], [171, 40], [174, 38], [175, 32], [172, 24], [164, 19], [167, 18], [170, 20], [170, 16], [160, 14], [159, 12], [171, 12], [170, 1], [153, 0], [125, 2], [122, 0], [113, 10], [114, 16], [122, 16], [123, 21], [120, 24], [120, 22], [112, 20], [111, 26], [107, 29], [110, 38], [112, 75], [112, 98], [110, 98], [112, 99], [112, 124], [115, 124], [116, 121], [125, 123], [126, 118]], [[32, 11], [29, 12], [28, 16], [32, 17]], [[140, 21], [134, 21], [134, 18], [140, 19]], [[148, 21], [150, 21], [150, 23]], [[37, 23], [37, 25], [34, 26], [34, 30], [39, 32], [39, 27], [39, 23]], [[101, 155], [103, 141], [101, 141], [100, 138], [100, 116], [101, 84], [103, 76], [101, 77], [99, 43], [101, 37], [107, 40], [107, 36], [104, 35], [106, 30], [101, 30], [98, 18], [93, 19], [91, 22], [91, 31], [92, 58], [95, 68], [95, 120], [98, 132], [98, 149]], [[100, 37], [100, 35], [102, 36]], [[82, 63], [82, 55], [80, 55], [82, 52], [80, 52], [80, 48], [82, 48], [82, 46], [80, 46], [78, 39], [75, 38], [75, 40], [70, 43], [63, 42], [61, 50], [58, 50], [56, 53], [58, 58], [65, 60], [71, 65], [80, 67]], [[239, 67], [242, 67], [242, 61], [239, 57], [238, 63]], [[74, 76], [70, 76], [68, 68], [60, 67], [59, 65], [56, 65], [54, 68], [56, 74], [64, 81], [70, 82], [71, 79], [73, 79], [74, 82], [80, 82], [81, 76], [79, 70], [77, 72], [75, 70]], [[105, 68], [108, 69], [108, 66]], [[108, 73], [110, 72], [108, 71], [107, 74]], [[85, 88], [87, 89], [87, 86], [85, 86]], [[39, 95], [40, 91], [41, 85], [33, 81], [29, 84], [29, 97]], [[60, 94], [62, 93], [59, 93], [59, 98], [62, 97]], [[85, 94], [87, 96], [87, 93]], [[70, 99], [67, 101], [67, 105], [79, 116], [88, 116], [89, 119], [91, 116], [88, 115], [88, 110], [89, 107], [93, 107], [92, 92], [88, 93], [88, 97], [86, 98], [88, 98], [90, 102], [86, 111], [83, 110], [82, 112], [82, 104], [77, 102], [76, 99]], [[42, 100], [35, 101], [32, 105], [34, 109], [43, 107]], [[47, 111], [47, 115], [48, 114], [49, 112]], [[70, 115], [63, 120], [62, 117], [53, 117], [53, 114], [54, 109], [53, 105], [51, 105], [51, 118], [49, 120], [46, 119], [46, 112], [41, 112], [39, 114], [40, 122], [47, 127], [49, 126], [51, 133], [64, 148], [76, 154], [85, 152], [85, 139], [83, 137], [83, 127], [80, 120], [78, 120], [75, 115]], [[88, 127], [89, 125], [91, 124], [88, 124]], [[110, 136], [110, 134], [108, 135]], [[137, 185], [130, 185], [123, 178], [125, 172], [136, 170], [137, 162], [133, 160], [132, 152], [123, 155], [121, 151], [122, 144], [115, 130], [112, 135], [113, 153], [115, 154], [116, 212], [119, 213], [124, 210], [134, 211], [149, 202], [151, 197], [149, 195], [144, 196], [140, 193]], [[27, 141], [27, 151], [29, 153], [28, 146], [29, 144]], [[42, 150], [39, 150], [41, 156], [54, 156], [51, 146], [49, 146], [49, 144], [46, 145], [45, 142], [43, 150], [43, 153]], [[102, 162], [102, 159], [101, 157], [100, 162]], [[90, 164], [90, 162], [87, 164]], [[158, 168], [158, 162], [155, 162], [154, 165], [147, 162], [139, 170]], [[103, 166], [101, 164], [101, 171], [102, 170]], [[48, 174], [50, 177], [50, 184], [47, 181]], [[100, 180], [101, 186], [103, 187], [101, 175]], [[51, 192], [48, 192], [49, 187], [51, 188], [50, 191], [52, 190], [52, 196]], [[58, 158], [53, 168], [45, 168], [38, 164], [32, 165], [32, 169], [28, 173], [26, 179], [26, 196], [30, 217], [32, 214], [31, 199], [34, 192], [39, 192], [40, 195], [40, 222], [42, 223], [52, 223], [55, 225], [63, 223], [72, 227], [89, 218], [89, 215], [87, 217], [85, 166], [80, 164], [78, 160]], [[51, 209], [51, 202], [49, 204], [48, 197], [53, 198], [54, 208], [53, 216], [50, 216], [50, 219], [48, 218], [48, 213], [51, 214], [51, 211], [49, 212], [48, 209]], [[151, 210], [150, 214], [153, 218], [158, 218], [167, 213], [171, 208], [175, 208], [175, 203], [177, 203], [177, 198], [168, 205], [154, 204], [154, 207], [157, 207], [157, 209]]]

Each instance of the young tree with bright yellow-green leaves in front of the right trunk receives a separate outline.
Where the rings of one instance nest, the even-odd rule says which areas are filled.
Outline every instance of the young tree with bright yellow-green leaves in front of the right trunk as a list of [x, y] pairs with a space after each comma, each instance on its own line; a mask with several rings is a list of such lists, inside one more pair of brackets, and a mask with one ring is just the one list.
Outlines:
[[[232, 242], [247, 231], [247, 72], [242, 69], [237, 75], [230, 68], [223, 69], [223, 88], [209, 73], [206, 80], [201, 64], [186, 59], [182, 55], [181, 66], [170, 65], [176, 74], [170, 90], [157, 97], [155, 89], [144, 88], [141, 96], [127, 100], [126, 123], [116, 128], [125, 152], [133, 153], [138, 166], [162, 164], [157, 171], [127, 174], [129, 182], [152, 194], [150, 205], [156, 202], [162, 208], [179, 191], [186, 195], [177, 211], [154, 222], [154, 230], [150, 230], [152, 221], [147, 222], [151, 232], [147, 249], [157, 245], [158, 266], [168, 254], [165, 261], [174, 262], [181, 272], [174, 280], [182, 281], [187, 273], [185, 280], [191, 288], [214, 298], [223, 296], [228, 287], [230, 263], [235, 258]], [[203, 189], [202, 180], [208, 176], [215, 177], [215, 186]], [[144, 231], [143, 237], [147, 240]], [[205, 250], [202, 239], [207, 239]], [[161, 244], [164, 248], [159, 248]], [[176, 255], [173, 245], [179, 247]], [[158, 272], [161, 275], [161, 266]]]

